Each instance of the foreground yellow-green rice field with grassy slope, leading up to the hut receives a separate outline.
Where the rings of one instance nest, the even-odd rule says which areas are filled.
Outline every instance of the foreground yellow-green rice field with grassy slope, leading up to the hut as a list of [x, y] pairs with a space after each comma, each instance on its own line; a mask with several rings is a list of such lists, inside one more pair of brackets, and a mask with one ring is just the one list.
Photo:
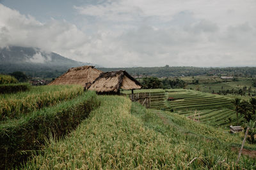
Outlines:
[[256, 160], [244, 155], [235, 163], [237, 153], [230, 149], [240, 136], [146, 110], [125, 97], [99, 99], [101, 106], [76, 131], [50, 140], [23, 169], [255, 169]]

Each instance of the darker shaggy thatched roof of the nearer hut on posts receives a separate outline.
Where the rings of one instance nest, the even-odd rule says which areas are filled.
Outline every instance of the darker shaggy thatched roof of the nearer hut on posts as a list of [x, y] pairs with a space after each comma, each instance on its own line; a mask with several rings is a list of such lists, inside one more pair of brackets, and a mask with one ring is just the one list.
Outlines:
[[135, 78], [130, 76], [126, 71], [111, 71], [101, 73], [95, 81], [93, 81], [88, 90], [95, 90], [99, 93], [119, 92], [120, 89], [131, 90], [141, 89], [142, 85]]

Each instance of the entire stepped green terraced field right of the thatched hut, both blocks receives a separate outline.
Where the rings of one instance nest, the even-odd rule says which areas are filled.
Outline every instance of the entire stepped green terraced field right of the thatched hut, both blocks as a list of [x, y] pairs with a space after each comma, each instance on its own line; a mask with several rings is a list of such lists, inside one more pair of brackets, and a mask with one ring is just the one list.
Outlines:
[[[229, 125], [240, 125], [244, 120], [241, 115], [236, 117], [231, 97], [186, 89], [134, 91], [134, 93], [145, 92], [151, 94], [150, 108], [172, 110], [186, 117], [195, 115], [196, 111], [200, 115], [200, 122], [209, 125], [228, 127]], [[128, 93], [127, 91], [126, 94]], [[173, 97], [174, 101], [167, 101], [168, 97]]]

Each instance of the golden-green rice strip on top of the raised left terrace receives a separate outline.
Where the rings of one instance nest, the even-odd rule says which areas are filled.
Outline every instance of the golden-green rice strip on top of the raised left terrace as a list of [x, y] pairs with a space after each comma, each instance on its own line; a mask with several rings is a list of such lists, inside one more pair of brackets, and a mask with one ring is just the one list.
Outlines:
[[19, 118], [31, 111], [53, 106], [83, 93], [83, 87], [76, 85], [32, 87], [28, 92], [3, 94], [0, 96], [0, 120]]

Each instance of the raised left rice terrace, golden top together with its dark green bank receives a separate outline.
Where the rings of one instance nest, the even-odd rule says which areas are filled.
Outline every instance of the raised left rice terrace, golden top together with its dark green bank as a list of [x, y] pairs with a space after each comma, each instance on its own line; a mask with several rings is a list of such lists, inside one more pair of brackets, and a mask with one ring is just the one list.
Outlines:
[[95, 92], [77, 85], [31, 87], [0, 96], [0, 169], [20, 164], [45, 139], [62, 138], [99, 106]]

